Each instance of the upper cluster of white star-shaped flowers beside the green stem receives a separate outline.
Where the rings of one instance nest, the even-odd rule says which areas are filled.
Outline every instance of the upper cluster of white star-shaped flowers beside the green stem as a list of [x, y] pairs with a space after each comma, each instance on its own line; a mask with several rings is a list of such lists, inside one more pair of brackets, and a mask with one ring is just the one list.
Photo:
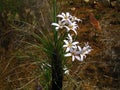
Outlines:
[[[58, 23], [52, 23], [53, 26], [56, 26], [56, 30], [66, 28], [67, 32], [73, 31], [75, 34], [77, 34], [76, 30], [78, 28], [77, 22], [81, 21], [75, 16], [70, 15], [70, 13], [66, 12], [57, 15], [57, 17], [60, 18]], [[77, 21], [77, 22], [76, 22]]]

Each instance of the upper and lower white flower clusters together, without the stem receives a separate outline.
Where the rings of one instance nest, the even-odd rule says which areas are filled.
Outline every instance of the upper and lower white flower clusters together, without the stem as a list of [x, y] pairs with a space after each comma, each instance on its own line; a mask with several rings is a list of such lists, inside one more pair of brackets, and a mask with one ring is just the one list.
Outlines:
[[81, 19], [78, 19], [75, 16], [70, 15], [69, 12], [62, 13], [57, 15], [60, 20], [58, 23], [52, 23], [53, 26], [55, 26], [55, 29], [58, 31], [59, 29], [65, 28], [66, 31], [68, 32], [68, 36], [64, 40], [64, 45], [63, 47], [65, 48], [66, 54], [64, 55], [65, 57], [72, 57], [72, 61], [75, 59], [79, 61], [83, 61], [84, 58], [86, 58], [86, 54], [89, 54], [91, 52], [91, 47], [89, 46], [88, 43], [85, 43], [85, 46], [82, 48], [79, 46], [79, 42], [74, 41], [72, 38], [72, 35], [70, 34], [69, 31], [73, 31], [77, 35], [77, 22], [82, 21]]

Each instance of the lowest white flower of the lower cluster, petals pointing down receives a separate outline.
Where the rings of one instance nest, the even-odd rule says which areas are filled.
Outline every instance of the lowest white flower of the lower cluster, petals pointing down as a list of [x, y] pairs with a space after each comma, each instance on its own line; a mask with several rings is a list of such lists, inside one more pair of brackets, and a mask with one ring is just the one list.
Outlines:
[[64, 55], [65, 57], [70, 57], [72, 56], [72, 61], [75, 59], [81, 61], [81, 58], [79, 56], [79, 51], [77, 51], [77, 48], [72, 48], [70, 49], [70, 52]]

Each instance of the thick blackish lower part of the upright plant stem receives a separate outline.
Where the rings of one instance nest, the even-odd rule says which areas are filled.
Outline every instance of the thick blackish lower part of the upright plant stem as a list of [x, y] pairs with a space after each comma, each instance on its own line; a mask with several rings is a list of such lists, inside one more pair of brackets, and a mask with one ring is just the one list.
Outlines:
[[63, 69], [59, 51], [55, 50], [52, 59], [52, 90], [62, 90]]

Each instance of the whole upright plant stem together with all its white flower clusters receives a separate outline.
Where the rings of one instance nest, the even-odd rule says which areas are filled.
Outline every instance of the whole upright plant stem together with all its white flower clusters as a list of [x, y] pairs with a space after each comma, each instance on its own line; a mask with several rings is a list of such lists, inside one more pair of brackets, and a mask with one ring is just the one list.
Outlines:
[[[52, 82], [51, 90], [62, 90], [63, 81], [63, 61], [66, 57], [72, 57], [72, 61], [77, 59], [78, 61], [83, 61], [86, 58], [86, 54], [91, 52], [91, 47], [87, 44], [82, 48], [79, 46], [79, 42], [74, 41], [73, 35], [77, 35], [78, 25], [77, 22], [82, 21], [75, 16], [70, 15], [69, 12], [61, 13], [56, 15], [56, 0], [53, 0], [53, 23], [54, 26], [53, 33], [53, 50], [51, 55], [51, 67], [52, 67]], [[58, 23], [57, 18], [58, 17]], [[59, 30], [64, 30], [63, 34], [59, 34]], [[66, 37], [66, 33], [68, 37]], [[65, 44], [64, 44], [65, 43]]]

